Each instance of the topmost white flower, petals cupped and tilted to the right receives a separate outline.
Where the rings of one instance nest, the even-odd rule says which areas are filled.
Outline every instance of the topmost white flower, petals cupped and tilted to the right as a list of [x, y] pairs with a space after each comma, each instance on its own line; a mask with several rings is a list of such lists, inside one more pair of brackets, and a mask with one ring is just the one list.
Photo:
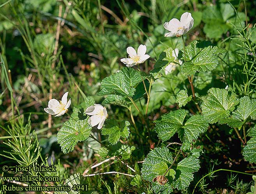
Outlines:
[[180, 37], [183, 34], [186, 34], [194, 25], [194, 19], [191, 16], [191, 13], [185, 12], [180, 17], [180, 21], [176, 18], [171, 19], [169, 22], [164, 23], [164, 28], [167, 29], [165, 37], [177, 36]]

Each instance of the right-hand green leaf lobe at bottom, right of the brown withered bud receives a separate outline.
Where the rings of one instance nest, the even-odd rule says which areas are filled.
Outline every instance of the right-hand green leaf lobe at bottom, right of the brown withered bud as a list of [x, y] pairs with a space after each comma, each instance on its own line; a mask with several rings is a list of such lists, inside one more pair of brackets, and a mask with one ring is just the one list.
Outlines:
[[190, 182], [193, 180], [193, 173], [198, 171], [200, 168], [199, 159], [189, 156], [180, 161], [176, 169], [176, 179], [173, 182], [173, 187], [181, 190], [188, 187]]

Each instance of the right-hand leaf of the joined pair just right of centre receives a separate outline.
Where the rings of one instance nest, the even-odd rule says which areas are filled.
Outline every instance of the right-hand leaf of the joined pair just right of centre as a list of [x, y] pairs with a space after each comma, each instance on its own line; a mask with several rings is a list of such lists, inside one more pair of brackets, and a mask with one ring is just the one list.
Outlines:
[[182, 141], [191, 143], [193, 139], [196, 140], [198, 138], [200, 133], [207, 131], [208, 122], [203, 116], [194, 115], [186, 121], [183, 128], [184, 138]]

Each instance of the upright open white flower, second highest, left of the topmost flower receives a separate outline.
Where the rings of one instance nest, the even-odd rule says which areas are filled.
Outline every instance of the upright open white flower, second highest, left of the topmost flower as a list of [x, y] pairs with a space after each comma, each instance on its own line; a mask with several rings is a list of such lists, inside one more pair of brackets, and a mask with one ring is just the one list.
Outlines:
[[132, 67], [137, 65], [138, 63], [143, 63], [150, 56], [146, 54], [147, 47], [146, 45], [139, 45], [138, 52], [133, 47], [127, 47], [126, 52], [128, 53], [129, 58], [121, 59], [127, 67]]

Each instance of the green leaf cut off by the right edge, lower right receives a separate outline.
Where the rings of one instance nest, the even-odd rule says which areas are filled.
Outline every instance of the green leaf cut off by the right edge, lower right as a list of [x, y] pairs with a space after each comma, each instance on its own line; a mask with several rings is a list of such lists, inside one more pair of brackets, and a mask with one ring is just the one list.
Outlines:
[[256, 137], [252, 137], [243, 149], [244, 159], [250, 163], [256, 162]]

